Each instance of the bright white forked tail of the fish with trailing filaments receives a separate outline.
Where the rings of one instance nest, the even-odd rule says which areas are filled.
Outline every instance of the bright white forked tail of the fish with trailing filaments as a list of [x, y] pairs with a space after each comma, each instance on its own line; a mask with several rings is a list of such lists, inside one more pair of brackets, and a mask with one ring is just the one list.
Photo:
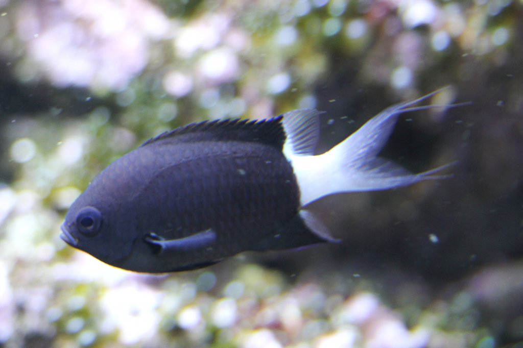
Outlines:
[[[297, 122], [293, 121], [293, 119], [300, 117], [300, 114], [297, 114], [297, 111], [285, 114], [283, 125], [286, 126], [287, 123], [294, 126], [286, 127], [289, 138], [289, 145], [286, 144], [286, 156], [292, 163], [294, 173], [300, 185], [302, 206], [323, 196], [339, 192], [385, 190], [410, 185], [418, 181], [448, 177], [446, 175], [438, 175], [438, 172], [452, 164], [422, 173], [412, 173], [393, 161], [378, 157], [378, 153], [386, 141], [388, 141], [401, 113], [465, 105], [465, 103], [460, 103], [413, 107], [415, 103], [425, 100], [441, 90], [436, 90], [416, 100], [403, 102], [383, 110], [343, 142], [328, 152], [317, 156], [306, 156], [303, 153], [291, 151], [291, 148], [303, 148], [300, 147], [300, 143], [306, 143], [306, 148], [311, 148], [311, 145], [310, 141], [303, 137], [304, 133], [300, 133], [299, 127], [295, 127]], [[301, 117], [304, 118], [300, 124], [306, 125], [304, 127], [309, 134], [316, 134], [310, 130], [311, 124], [314, 124], [314, 122], [307, 121], [306, 118], [317, 118], [318, 113], [310, 110], [298, 111], [302, 111]], [[292, 145], [293, 143], [297, 144]]]

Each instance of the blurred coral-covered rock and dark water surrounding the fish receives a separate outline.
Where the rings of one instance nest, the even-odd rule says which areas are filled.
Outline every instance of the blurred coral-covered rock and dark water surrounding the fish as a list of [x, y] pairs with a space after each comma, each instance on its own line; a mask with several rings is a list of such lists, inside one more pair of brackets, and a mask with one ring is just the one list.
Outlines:
[[[521, 0], [0, 0], [0, 347], [523, 347]], [[313, 203], [343, 243], [123, 271], [59, 238], [111, 161], [190, 122], [395, 102], [451, 178]], [[318, 180], [321, 180], [319, 178]]]

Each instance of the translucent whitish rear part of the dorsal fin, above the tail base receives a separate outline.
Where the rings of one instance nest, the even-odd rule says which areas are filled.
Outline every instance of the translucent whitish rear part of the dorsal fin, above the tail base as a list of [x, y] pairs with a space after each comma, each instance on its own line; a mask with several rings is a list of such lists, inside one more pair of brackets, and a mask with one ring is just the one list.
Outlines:
[[283, 128], [287, 141], [283, 153], [291, 155], [312, 156], [320, 138], [320, 114], [324, 111], [314, 109], [293, 110], [283, 114]]

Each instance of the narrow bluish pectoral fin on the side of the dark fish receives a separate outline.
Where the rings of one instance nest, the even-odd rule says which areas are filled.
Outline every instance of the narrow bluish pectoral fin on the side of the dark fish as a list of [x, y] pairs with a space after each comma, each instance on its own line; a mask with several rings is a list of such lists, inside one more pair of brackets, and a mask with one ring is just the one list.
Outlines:
[[216, 240], [216, 232], [212, 229], [207, 229], [197, 234], [178, 239], [165, 239], [155, 233], [149, 233], [144, 237], [144, 240], [151, 246], [153, 253], [161, 254], [165, 252], [206, 248]]

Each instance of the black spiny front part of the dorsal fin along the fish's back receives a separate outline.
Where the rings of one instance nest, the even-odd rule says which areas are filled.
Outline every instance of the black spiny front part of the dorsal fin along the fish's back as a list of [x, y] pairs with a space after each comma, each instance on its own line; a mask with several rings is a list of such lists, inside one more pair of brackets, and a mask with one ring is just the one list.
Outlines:
[[286, 135], [281, 120], [282, 117], [279, 116], [266, 120], [225, 119], [191, 123], [151, 138], [142, 146], [159, 142], [177, 144], [205, 141], [244, 141], [267, 144], [282, 150]]

